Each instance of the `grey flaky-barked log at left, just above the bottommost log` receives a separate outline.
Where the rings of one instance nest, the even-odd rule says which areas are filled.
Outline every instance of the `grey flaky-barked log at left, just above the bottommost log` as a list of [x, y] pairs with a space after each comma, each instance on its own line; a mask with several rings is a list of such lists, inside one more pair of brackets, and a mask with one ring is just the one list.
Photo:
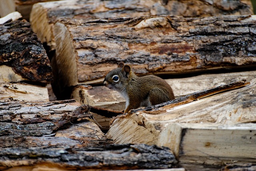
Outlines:
[[0, 101], [0, 147], [111, 143], [74, 99], [47, 103]]

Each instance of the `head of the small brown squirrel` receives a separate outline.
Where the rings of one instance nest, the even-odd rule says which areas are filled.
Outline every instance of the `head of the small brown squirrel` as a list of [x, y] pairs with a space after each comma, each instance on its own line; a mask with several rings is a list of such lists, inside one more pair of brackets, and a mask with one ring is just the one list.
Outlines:
[[120, 62], [118, 64], [118, 68], [110, 71], [107, 74], [103, 84], [109, 89], [113, 89], [115, 91], [124, 91], [126, 85], [128, 85], [130, 72], [130, 66], [124, 65], [123, 62]]

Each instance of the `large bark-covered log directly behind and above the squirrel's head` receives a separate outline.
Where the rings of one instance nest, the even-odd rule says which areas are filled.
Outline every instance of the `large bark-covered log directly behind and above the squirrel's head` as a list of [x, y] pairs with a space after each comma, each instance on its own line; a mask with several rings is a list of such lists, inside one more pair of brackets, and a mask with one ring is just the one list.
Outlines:
[[62, 19], [54, 25], [61, 85], [101, 83], [123, 61], [138, 75], [256, 66], [255, 16]]

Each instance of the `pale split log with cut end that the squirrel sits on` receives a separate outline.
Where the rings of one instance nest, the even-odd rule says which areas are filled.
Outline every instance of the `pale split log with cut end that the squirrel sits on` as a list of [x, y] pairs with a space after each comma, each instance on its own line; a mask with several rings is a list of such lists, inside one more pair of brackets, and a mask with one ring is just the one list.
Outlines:
[[250, 85], [239, 89], [211, 95], [177, 107], [167, 105], [155, 111], [154, 115], [139, 111], [117, 116], [112, 119], [107, 137], [113, 139], [114, 143], [157, 144], [161, 131], [172, 123], [250, 122], [256, 120], [253, 112], [255, 109], [256, 78]]

